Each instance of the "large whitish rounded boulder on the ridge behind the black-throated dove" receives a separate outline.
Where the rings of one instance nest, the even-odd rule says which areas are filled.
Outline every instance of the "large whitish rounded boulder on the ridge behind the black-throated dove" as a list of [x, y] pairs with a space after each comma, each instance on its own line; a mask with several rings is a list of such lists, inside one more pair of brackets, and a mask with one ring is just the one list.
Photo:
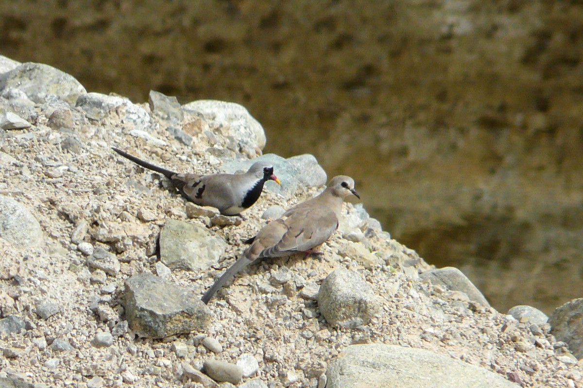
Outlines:
[[236, 139], [237, 149], [232, 149], [235, 152], [254, 156], [257, 148], [265, 147], [267, 139], [263, 127], [242, 105], [205, 99], [182, 105], [182, 109], [202, 115], [213, 127], [220, 127], [223, 136]]

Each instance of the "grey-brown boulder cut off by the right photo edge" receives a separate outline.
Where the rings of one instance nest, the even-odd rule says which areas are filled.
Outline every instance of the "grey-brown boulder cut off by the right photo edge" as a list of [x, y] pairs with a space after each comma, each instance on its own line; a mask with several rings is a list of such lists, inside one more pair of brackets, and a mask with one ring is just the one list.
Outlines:
[[550, 332], [567, 343], [577, 358], [583, 358], [583, 298], [568, 301], [549, 316]]

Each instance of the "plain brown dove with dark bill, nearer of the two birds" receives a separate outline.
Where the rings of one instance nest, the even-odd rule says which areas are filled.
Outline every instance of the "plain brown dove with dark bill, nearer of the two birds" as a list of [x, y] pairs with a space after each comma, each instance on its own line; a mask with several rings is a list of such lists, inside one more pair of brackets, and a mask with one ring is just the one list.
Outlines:
[[310, 252], [324, 243], [338, 228], [342, 201], [350, 194], [360, 198], [354, 190], [354, 180], [349, 176], [335, 176], [317, 197], [301, 202], [265, 225], [243, 255], [206, 291], [202, 301], [208, 303], [220, 287], [248, 264], [266, 257]]

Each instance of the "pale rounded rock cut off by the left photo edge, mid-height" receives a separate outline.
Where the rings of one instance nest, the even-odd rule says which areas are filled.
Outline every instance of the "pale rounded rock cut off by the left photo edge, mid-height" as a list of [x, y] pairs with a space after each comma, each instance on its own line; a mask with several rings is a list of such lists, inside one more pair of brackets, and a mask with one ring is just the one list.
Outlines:
[[43, 230], [29, 209], [0, 195], [0, 237], [17, 247], [35, 247], [43, 240]]

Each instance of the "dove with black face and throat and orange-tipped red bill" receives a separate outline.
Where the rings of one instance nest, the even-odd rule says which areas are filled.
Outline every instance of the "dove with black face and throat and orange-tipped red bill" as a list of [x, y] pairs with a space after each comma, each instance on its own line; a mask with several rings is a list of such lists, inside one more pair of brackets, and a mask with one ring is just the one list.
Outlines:
[[179, 174], [136, 158], [121, 149], [112, 148], [124, 158], [170, 179], [188, 201], [215, 207], [226, 216], [238, 215], [251, 207], [261, 195], [266, 181], [275, 180], [280, 184], [278, 177], [273, 174], [273, 166], [267, 162], [255, 162], [244, 174]]

